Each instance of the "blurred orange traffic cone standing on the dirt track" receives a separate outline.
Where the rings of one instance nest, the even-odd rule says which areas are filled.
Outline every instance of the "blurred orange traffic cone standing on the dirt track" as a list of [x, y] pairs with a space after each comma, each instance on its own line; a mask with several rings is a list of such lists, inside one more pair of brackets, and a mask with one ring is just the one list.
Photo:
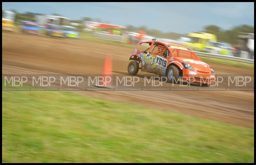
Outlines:
[[103, 81], [99, 81], [98, 87], [112, 87], [112, 56], [105, 56], [105, 61], [101, 73]]

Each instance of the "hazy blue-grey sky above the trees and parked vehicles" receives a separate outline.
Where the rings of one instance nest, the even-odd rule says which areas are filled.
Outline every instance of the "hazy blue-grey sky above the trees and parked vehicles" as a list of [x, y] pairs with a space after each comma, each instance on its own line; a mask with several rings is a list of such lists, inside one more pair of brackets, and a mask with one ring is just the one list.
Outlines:
[[58, 13], [70, 19], [101, 18], [115, 25], [146, 25], [164, 32], [188, 33], [205, 25], [229, 29], [235, 25], [254, 25], [254, 3], [2, 3], [2, 10], [44, 14]]

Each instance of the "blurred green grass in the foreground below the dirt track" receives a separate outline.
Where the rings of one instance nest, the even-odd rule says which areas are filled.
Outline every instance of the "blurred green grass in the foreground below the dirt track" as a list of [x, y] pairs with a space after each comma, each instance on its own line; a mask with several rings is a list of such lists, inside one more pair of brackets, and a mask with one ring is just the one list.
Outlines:
[[69, 91], [2, 96], [2, 162], [254, 162], [252, 128]]

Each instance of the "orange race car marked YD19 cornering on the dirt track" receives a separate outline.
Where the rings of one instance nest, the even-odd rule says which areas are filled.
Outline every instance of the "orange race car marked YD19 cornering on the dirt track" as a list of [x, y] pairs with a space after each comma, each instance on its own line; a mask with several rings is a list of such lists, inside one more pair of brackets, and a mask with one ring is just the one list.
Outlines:
[[[136, 75], [141, 71], [167, 77], [167, 82], [178, 82], [181, 78], [190, 83], [211, 85], [215, 73], [187, 47], [159, 42], [157, 39], [138, 43], [129, 60], [128, 72]], [[141, 67], [139, 64], [141, 63]]]

